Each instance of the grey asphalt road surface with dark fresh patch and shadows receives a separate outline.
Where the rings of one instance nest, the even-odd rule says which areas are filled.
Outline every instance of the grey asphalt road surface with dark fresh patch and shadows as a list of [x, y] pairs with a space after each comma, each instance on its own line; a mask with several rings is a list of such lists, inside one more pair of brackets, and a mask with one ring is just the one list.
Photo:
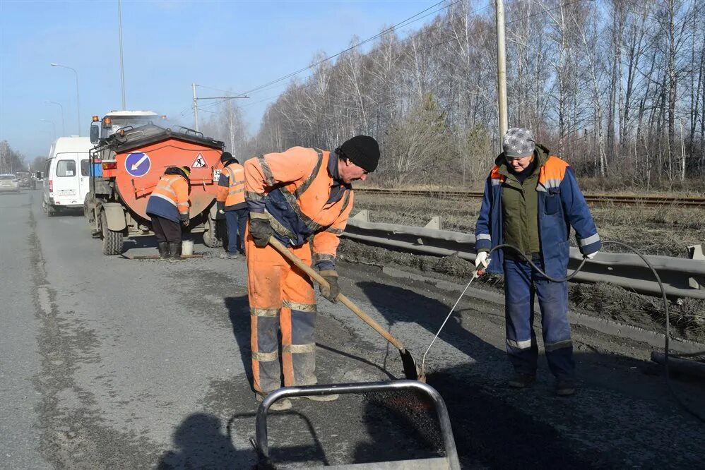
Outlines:
[[[250, 389], [244, 259], [105, 257], [80, 213], [47, 217], [40, 191], [0, 195], [0, 467], [246, 469]], [[151, 239], [126, 243], [156, 253]], [[340, 267], [343, 291], [420, 360], [458, 293]], [[458, 282], [463, 282], [459, 279]], [[644, 344], [574, 328], [580, 388], [553, 394], [541, 361], [528, 390], [504, 385], [497, 306], [465, 299], [429, 353], [463, 468], [702, 468], [705, 427], [670, 397]], [[343, 306], [319, 301], [319, 382], [401, 377], [396, 349]], [[694, 406], [702, 382], [674, 381]], [[428, 406], [410, 394], [296, 400], [269, 424], [294, 466], [432, 457]]]

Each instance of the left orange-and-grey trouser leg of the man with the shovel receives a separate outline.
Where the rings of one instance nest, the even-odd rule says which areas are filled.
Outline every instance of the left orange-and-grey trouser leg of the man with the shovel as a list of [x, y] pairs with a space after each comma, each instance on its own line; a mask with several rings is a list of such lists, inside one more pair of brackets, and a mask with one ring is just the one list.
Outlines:
[[283, 259], [271, 246], [256, 248], [247, 240], [247, 291], [249, 294], [254, 390], [268, 393], [281, 387], [279, 323]]

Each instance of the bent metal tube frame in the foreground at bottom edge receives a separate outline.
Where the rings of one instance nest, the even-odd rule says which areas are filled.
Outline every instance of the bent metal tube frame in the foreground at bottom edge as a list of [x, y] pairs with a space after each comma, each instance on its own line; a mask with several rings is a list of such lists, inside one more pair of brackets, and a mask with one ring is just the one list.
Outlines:
[[386, 463], [351, 464], [336, 466], [309, 467], [315, 469], [451, 469], [460, 470], [458, 450], [456, 448], [448, 409], [441, 395], [430, 385], [417, 380], [393, 380], [391, 382], [360, 382], [338, 385], [307, 385], [304, 387], [283, 387], [268, 394], [257, 409], [256, 438], [252, 440], [258, 458], [258, 468], [276, 469], [269, 455], [267, 437], [267, 412], [269, 407], [279, 399], [302, 397], [303, 395], [359, 394], [369, 392], [389, 392], [392, 390], [416, 390], [431, 399], [441, 428], [446, 457], [429, 459], [398, 460]]

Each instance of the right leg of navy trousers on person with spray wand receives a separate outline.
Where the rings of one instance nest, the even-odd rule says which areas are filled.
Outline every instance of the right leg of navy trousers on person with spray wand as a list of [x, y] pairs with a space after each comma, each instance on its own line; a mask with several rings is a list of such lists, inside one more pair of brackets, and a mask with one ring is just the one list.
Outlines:
[[[538, 265], [543, 269], [543, 265]], [[568, 283], [551, 282], [535, 272], [548, 368], [557, 378], [574, 378], [573, 342], [568, 321]]]

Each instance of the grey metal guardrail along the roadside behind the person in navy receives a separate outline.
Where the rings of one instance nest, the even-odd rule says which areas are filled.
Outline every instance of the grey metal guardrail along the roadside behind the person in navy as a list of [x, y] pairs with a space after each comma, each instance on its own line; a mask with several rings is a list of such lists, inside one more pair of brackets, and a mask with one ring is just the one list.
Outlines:
[[[397, 224], [367, 222], [353, 217], [343, 234], [348, 239], [374, 246], [420, 255], [449, 256], [475, 260], [475, 236], [457, 231], [408, 227]], [[578, 248], [570, 248], [568, 270], [581, 263]], [[705, 299], [705, 260], [688, 260], [670, 256], [646, 256], [658, 271], [666, 294], [672, 297]], [[644, 260], [638, 255], [600, 251], [574, 278], [579, 282], [610, 282], [643, 294], [660, 294], [658, 283]]]

